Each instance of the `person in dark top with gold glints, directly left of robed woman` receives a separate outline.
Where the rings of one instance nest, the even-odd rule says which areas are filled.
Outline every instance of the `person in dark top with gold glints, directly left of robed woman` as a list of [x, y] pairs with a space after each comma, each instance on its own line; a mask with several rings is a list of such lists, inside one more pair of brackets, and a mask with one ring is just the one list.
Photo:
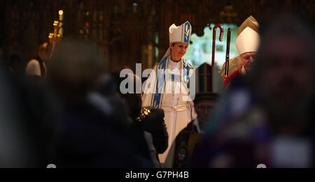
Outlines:
[[[149, 158], [154, 167], [161, 167], [158, 153], [163, 153], [168, 147], [168, 134], [165, 127], [165, 114], [163, 109], [153, 107], [141, 107], [142, 86], [141, 79], [137, 75], [128, 74], [120, 86], [127, 81], [128, 88], [134, 86], [121, 97], [127, 105], [128, 115], [137, 134], [137, 147], [141, 155]], [[121, 87], [120, 87], [121, 89]], [[125, 91], [124, 91], [125, 92]]]

